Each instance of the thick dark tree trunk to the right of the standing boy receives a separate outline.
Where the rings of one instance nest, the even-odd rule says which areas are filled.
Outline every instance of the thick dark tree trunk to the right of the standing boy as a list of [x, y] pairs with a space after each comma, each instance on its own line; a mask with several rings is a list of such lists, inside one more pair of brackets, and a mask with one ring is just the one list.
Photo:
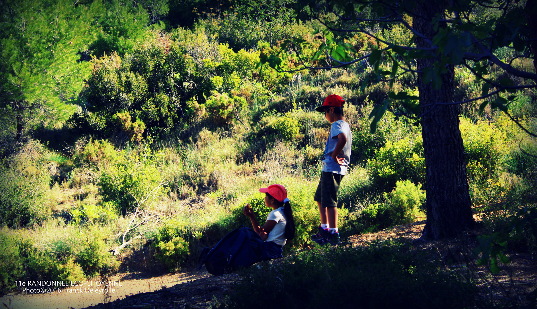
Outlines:
[[[432, 40], [436, 34], [431, 20], [440, 14], [445, 19], [446, 4], [441, 1], [417, 2], [413, 28]], [[428, 19], [428, 20], [427, 20]], [[443, 25], [445, 26], [445, 25]], [[442, 25], [440, 25], [442, 27]], [[440, 28], [439, 27], [439, 28]], [[416, 38], [416, 47], [430, 47], [424, 39]], [[417, 69], [432, 67], [437, 58], [417, 60]], [[474, 220], [468, 194], [464, 147], [459, 130], [458, 107], [456, 105], [424, 105], [435, 102], [453, 102], [454, 66], [447, 67], [442, 74], [442, 87], [434, 89], [433, 83], [425, 85], [423, 73], [418, 73], [419, 103], [422, 105], [421, 118], [423, 148], [426, 167], [426, 212], [427, 222], [423, 236], [429, 239], [453, 237], [473, 226]]]

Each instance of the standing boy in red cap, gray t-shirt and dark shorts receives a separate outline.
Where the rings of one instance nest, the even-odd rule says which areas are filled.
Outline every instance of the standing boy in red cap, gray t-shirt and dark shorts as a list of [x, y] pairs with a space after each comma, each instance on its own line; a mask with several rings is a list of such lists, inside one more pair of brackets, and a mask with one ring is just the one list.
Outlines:
[[317, 111], [324, 112], [324, 117], [332, 125], [324, 147], [323, 169], [321, 181], [315, 191], [314, 201], [317, 202], [321, 214], [321, 226], [311, 239], [318, 244], [339, 243], [337, 230], [337, 192], [339, 183], [347, 172], [351, 158], [352, 133], [349, 124], [343, 117], [345, 101], [337, 94], [326, 97]]

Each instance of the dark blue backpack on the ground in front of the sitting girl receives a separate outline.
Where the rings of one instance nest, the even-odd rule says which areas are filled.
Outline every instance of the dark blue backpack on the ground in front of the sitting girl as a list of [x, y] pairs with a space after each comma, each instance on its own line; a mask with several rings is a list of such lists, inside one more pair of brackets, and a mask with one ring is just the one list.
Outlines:
[[243, 225], [229, 232], [211, 250], [205, 247], [199, 268], [205, 263], [209, 274], [222, 275], [240, 267], [250, 267], [260, 261], [263, 243], [254, 230]]

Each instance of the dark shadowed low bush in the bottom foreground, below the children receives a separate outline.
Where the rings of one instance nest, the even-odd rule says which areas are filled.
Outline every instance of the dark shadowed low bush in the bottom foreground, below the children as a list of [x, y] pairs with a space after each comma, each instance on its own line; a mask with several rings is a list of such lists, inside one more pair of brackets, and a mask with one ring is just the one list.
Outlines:
[[[285, 263], [244, 270], [227, 305], [233, 308], [467, 308], [471, 281], [426, 261], [408, 245], [308, 250]], [[327, 291], [327, 287], [328, 291]]]

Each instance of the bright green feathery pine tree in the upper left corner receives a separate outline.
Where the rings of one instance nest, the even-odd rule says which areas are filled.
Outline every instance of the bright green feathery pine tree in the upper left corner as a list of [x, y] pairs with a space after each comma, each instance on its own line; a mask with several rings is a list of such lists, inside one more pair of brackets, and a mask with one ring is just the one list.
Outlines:
[[71, 104], [91, 75], [79, 51], [94, 40], [100, 1], [0, 3], [0, 114], [19, 140], [28, 125], [54, 126], [76, 110]]

